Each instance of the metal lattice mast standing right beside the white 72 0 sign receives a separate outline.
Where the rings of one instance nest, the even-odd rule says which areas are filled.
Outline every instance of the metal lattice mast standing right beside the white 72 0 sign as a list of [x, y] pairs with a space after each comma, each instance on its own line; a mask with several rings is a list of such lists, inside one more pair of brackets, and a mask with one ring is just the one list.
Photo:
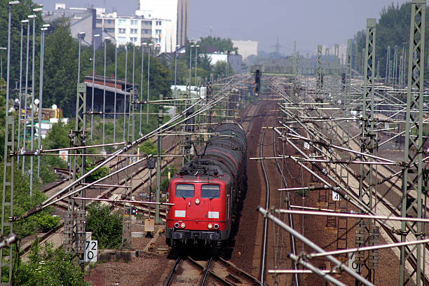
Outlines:
[[[76, 88], [76, 121], [74, 130], [70, 130], [70, 147], [83, 147], [86, 146], [86, 84], [78, 83]], [[76, 149], [74, 154], [83, 155], [85, 149]], [[86, 156], [81, 156], [81, 163], [79, 163], [79, 156], [74, 157], [73, 165], [73, 181], [79, 175], [85, 175]], [[81, 181], [84, 183], [84, 181]], [[74, 191], [75, 187], [71, 189]], [[85, 197], [85, 190], [79, 192], [77, 196]], [[81, 200], [80, 205], [77, 205], [74, 198], [69, 198], [69, 206], [64, 217], [64, 234], [63, 245], [66, 252], [74, 252], [79, 254], [79, 258], [83, 261], [83, 253], [85, 250], [85, 200]], [[76, 228], [76, 229], [75, 229]], [[75, 248], [73, 248], [75, 245]]]

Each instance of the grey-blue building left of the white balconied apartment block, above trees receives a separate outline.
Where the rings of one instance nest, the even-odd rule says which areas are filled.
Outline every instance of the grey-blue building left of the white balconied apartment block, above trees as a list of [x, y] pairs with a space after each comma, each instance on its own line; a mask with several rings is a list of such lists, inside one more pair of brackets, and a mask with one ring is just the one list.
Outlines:
[[55, 11], [43, 13], [43, 21], [49, 23], [63, 17], [69, 18], [71, 36], [78, 39], [78, 34], [85, 32], [82, 45], [92, 46], [95, 41], [95, 45], [100, 46], [101, 39], [93, 37], [101, 32], [101, 29], [95, 26], [96, 15], [95, 8], [67, 8], [65, 4], [55, 4]]

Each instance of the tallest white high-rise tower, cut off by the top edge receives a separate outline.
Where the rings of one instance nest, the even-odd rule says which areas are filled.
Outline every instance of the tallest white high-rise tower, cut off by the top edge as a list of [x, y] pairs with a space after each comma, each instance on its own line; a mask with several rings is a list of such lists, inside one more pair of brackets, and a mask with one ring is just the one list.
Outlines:
[[167, 51], [174, 51], [176, 45], [184, 46], [189, 39], [189, 0], [139, 0], [139, 9], [135, 15], [170, 20], [171, 49]]

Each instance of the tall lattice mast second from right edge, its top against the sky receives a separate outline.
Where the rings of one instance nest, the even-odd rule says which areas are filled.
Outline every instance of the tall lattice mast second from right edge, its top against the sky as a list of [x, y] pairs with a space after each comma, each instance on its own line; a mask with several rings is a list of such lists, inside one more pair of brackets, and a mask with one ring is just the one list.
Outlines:
[[[364, 69], [364, 93], [362, 98], [362, 139], [361, 139], [361, 152], [369, 152], [374, 154], [376, 150], [377, 139], [374, 132], [374, 83], [375, 83], [375, 51], [376, 51], [376, 19], [367, 19], [367, 41], [365, 46], [365, 69]], [[368, 110], [369, 108], [369, 110]], [[369, 111], [369, 114], [368, 114]], [[361, 156], [362, 161], [369, 160]], [[372, 172], [372, 165], [369, 165], [368, 170], [364, 166], [360, 167], [359, 179], [359, 199], [366, 203], [369, 209], [373, 209], [373, 193], [375, 191], [374, 175]], [[364, 183], [367, 183], [367, 189]], [[369, 236], [367, 237], [367, 231]], [[379, 240], [379, 226], [376, 226], [372, 220], [367, 224], [365, 221], [358, 222], [356, 226], [355, 246], [361, 247], [363, 245], [376, 245]], [[367, 269], [367, 280], [374, 282], [374, 270], [378, 268], [379, 252], [378, 250], [370, 251], [367, 259], [365, 259], [364, 252], [357, 252], [355, 254], [355, 261], [360, 266], [359, 270], [362, 273], [362, 266]]]

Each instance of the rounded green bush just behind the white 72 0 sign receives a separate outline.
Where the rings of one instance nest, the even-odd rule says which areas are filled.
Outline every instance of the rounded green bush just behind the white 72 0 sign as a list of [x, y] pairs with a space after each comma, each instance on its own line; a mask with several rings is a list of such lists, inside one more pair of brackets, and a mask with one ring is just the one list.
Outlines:
[[122, 243], [122, 215], [111, 212], [109, 205], [91, 203], [86, 215], [86, 231], [93, 232], [100, 248], [117, 248]]

